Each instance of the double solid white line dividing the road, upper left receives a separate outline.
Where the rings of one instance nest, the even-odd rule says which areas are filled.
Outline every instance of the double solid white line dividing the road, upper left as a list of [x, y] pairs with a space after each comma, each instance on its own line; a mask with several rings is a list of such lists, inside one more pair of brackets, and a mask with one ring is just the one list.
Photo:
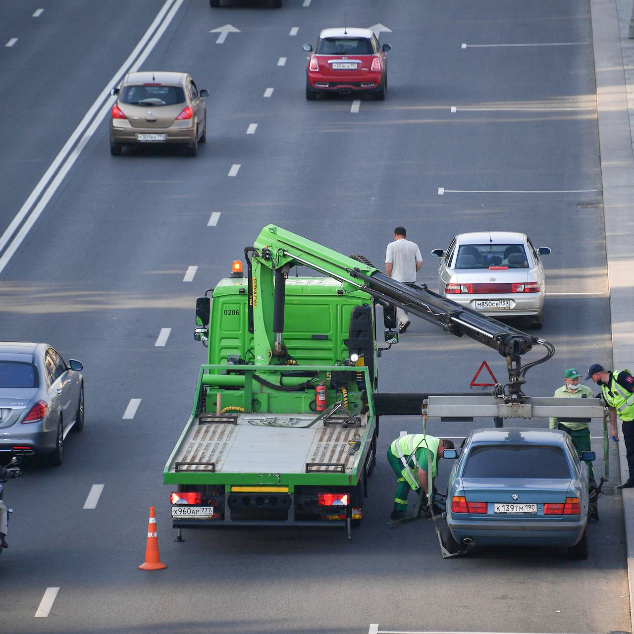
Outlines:
[[[9, 226], [6, 228], [6, 230], [4, 230], [3, 235], [0, 237], [0, 251], [3, 250], [6, 244], [11, 240], [11, 236], [13, 236], [13, 233], [15, 233], [17, 228], [20, 226], [20, 223], [22, 223], [25, 217], [30, 214], [20, 231], [18, 231], [15, 238], [13, 238], [10, 247], [0, 258], [0, 273], [2, 273], [2, 271], [10, 261], [11, 257], [13, 257], [13, 254], [15, 254], [16, 250], [20, 247], [20, 244], [22, 244], [24, 238], [29, 233], [30, 228], [36, 223], [37, 219], [44, 210], [44, 207], [46, 207], [49, 200], [53, 197], [55, 191], [63, 181], [63, 178], [66, 176], [72, 165], [75, 163], [77, 157], [79, 157], [79, 154], [83, 150], [84, 146], [86, 146], [87, 141], [89, 141], [91, 136], [93, 136], [94, 132], [100, 126], [101, 121], [103, 120], [105, 115], [110, 111], [110, 107], [115, 101], [115, 97], [108, 98], [108, 94], [110, 93], [112, 85], [116, 84], [121, 79], [122, 75], [128, 70], [138, 70], [141, 64], [143, 64], [143, 62], [146, 60], [147, 56], [150, 55], [152, 49], [156, 46], [160, 37], [164, 34], [165, 29], [167, 29], [167, 27], [169, 26], [169, 23], [172, 21], [172, 18], [174, 18], [174, 15], [176, 15], [176, 12], [180, 8], [181, 4], [183, 4], [183, 0], [176, 0], [175, 2], [174, 0], [165, 0], [165, 4], [162, 6], [156, 18], [154, 18], [154, 21], [150, 25], [150, 28], [146, 30], [144, 36], [139, 40], [138, 44], [136, 45], [132, 53], [128, 56], [127, 60], [123, 63], [119, 70], [117, 70], [117, 73], [113, 75], [112, 79], [110, 80], [110, 82], [108, 82], [103, 91], [101, 91], [100, 95], [96, 98], [93, 105], [87, 110], [84, 118], [81, 120], [81, 122], [79, 122], [79, 125], [70, 135], [63, 148], [61, 148], [60, 152], [58, 152], [58, 155], [55, 157], [51, 165], [49, 165], [46, 172], [44, 172], [44, 176], [42, 176], [34, 190], [29, 194], [29, 197], [27, 198], [27, 200], [25, 200], [22, 207], [20, 207], [20, 210], [13, 218]], [[168, 11], [169, 13], [167, 13]], [[166, 13], [167, 15], [165, 15]], [[152, 37], [152, 33], [155, 29], [157, 29], [157, 26], [159, 26], [159, 29], [154, 33], [154, 36]], [[152, 37], [152, 39], [150, 39], [150, 37]], [[148, 42], [148, 40], [150, 41]], [[141, 53], [140, 56], [138, 56], [139, 52]], [[136, 62], [134, 62], [134, 64], [131, 66], [135, 58]], [[104, 99], [106, 99], [106, 102], [103, 104], [103, 106], [101, 106], [101, 103]], [[93, 120], [93, 123], [89, 126], [91, 119], [93, 119], [93, 116], [97, 111], [99, 111], [98, 115]], [[87, 126], [89, 127], [87, 128], [86, 133], [84, 133], [84, 130]], [[77, 145], [77, 147], [75, 147], [72, 151], [71, 155], [68, 156], [71, 148], [75, 145], [75, 142], [82, 134], [83, 136], [79, 145]], [[51, 179], [53, 178], [53, 174], [55, 174], [56, 170], [58, 169], [58, 167], [60, 167], [60, 164], [62, 164], [62, 162], [64, 162], [63, 167], [61, 168], [60, 172], [58, 172], [57, 176], [55, 176], [53, 182], [49, 184], [49, 181], [51, 181]], [[42, 191], [44, 191], [45, 189], [46, 192], [44, 193], [44, 196], [42, 196], [36, 207], [32, 209], [37, 198], [39, 198]]]

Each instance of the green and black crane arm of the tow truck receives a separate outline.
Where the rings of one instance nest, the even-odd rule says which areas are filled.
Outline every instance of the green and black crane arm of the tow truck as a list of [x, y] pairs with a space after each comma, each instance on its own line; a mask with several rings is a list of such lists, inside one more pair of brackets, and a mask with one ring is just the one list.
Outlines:
[[[249, 253], [252, 253], [251, 259]], [[252, 332], [255, 329], [255, 332], [266, 333], [264, 337], [255, 337], [257, 365], [275, 363], [273, 359], [285, 354], [281, 337], [285, 278], [296, 264], [341, 281], [344, 290], [361, 290], [384, 307], [399, 306], [452, 335], [467, 335], [495, 349], [507, 359], [510, 399], [524, 396], [521, 387], [527, 370], [554, 354], [552, 344], [543, 339], [461, 306], [430, 291], [425, 285], [393, 280], [363, 257], [344, 256], [273, 224], [262, 229], [254, 247], [245, 249], [245, 257], [249, 272], [249, 327]], [[522, 368], [522, 354], [534, 345], [545, 346], [547, 354]]]

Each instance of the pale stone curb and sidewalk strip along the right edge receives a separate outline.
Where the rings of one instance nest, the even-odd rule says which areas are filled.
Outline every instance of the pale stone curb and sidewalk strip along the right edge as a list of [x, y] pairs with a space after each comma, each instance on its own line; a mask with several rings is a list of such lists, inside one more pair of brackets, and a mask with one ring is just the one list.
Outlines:
[[[625, 15], [631, 0], [590, 0], [592, 47], [597, 82], [597, 115], [605, 219], [605, 250], [612, 325], [612, 367], [634, 370], [634, 153], [630, 105], [634, 108], [634, 40], [627, 39]], [[619, 12], [621, 27], [619, 29]], [[628, 101], [630, 104], [628, 105]], [[634, 121], [634, 119], [633, 119]], [[619, 442], [621, 481], [627, 477], [623, 439]], [[634, 573], [634, 489], [623, 491], [630, 619]]]

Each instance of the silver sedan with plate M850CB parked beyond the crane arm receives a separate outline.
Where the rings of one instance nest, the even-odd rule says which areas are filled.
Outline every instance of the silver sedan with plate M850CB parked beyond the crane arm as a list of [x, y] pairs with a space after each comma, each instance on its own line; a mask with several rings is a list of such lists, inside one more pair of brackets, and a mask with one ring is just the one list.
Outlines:
[[478, 231], [460, 233], [448, 249], [434, 249], [441, 259], [438, 292], [494, 317], [526, 317], [541, 328], [546, 283], [541, 256], [525, 233]]

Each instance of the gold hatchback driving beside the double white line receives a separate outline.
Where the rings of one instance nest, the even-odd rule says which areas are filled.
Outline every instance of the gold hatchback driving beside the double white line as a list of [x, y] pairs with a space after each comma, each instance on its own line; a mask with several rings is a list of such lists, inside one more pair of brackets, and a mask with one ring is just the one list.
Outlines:
[[110, 117], [110, 153], [119, 156], [124, 145], [185, 144], [188, 155], [198, 153], [207, 137], [209, 91], [198, 90], [186, 73], [138, 72], [124, 77]]

